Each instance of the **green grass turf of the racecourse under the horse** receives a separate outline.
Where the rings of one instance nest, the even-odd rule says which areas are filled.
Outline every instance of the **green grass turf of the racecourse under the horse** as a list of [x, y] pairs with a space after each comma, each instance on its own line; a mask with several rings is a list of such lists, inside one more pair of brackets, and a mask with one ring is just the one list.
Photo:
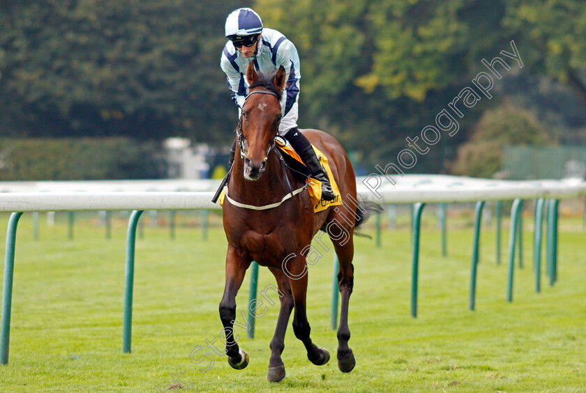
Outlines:
[[[80, 219], [75, 239], [67, 240], [66, 215], [51, 228], [42, 215], [36, 241], [30, 217], [22, 217], [17, 237], [10, 362], [0, 367], [1, 392], [153, 392], [172, 384], [170, 374], [178, 373], [196, 392], [586, 391], [586, 243], [583, 231], [563, 230], [563, 218], [559, 281], [550, 287], [544, 277], [541, 293], [534, 292], [527, 232], [525, 268], [516, 269], [511, 304], [505, 302], [507, 233], [502, 265], [496, 265], [495, 231], [483, 229], [476, 311], [467, 309], [472, 230], [449, 231], [446, 258], [440, 232], [423, 231], [416, 319], [410, 316], [410, 233], [384, 231], [380, 249], [373, 240], [355, 238], [349, 319], [358, 362], [347, 374], [336, 366], [336, 333], [329, 328], [327, 252], [310, 266], [308, 318], [313, 341], [329, 349], [331, 360], [322, 367], [311, 364], [289, 327], [287, 377], [269, 384], [278, 306], [257, 319], [255, 339], [235, 329], [250, 355], [246, 369], [233, 370], [217, 356], [202, 373], [206, 362], [189, 360], [204, 340], [220, 342], [222, 229], [212, 227], [209, 240], [202, 241], [195, 227], [178, 226], [174, 240], [167, 228], [145, 228], [136, 250], [133, 353], [123, 354], [125, 222], [114, 222], [107, 240], [103, 227]], [[8, 215], [0, 215], [1, 227], [7, 221]], [[258, 288], [272, 282], [261, 268]], [[248, 286], [247, 277], [237, 314], [248, 303]]]

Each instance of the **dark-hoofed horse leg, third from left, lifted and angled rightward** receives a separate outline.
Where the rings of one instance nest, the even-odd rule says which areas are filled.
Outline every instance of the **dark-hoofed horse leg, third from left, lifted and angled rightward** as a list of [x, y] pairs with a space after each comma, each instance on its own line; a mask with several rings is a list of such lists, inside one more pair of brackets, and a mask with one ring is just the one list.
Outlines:
[[329, 361], [329, 352], [326, 348], [317, 348], [310, 339], [311, 327], [306, 313], [308, 269], [305, 257], [295, 256], [287, 261], [286, 267], [295, 308], [293, 332], [295, 333], [295, 337], [300, 339], [306, 347], [308, 359], [313, 364], [322, 366]]

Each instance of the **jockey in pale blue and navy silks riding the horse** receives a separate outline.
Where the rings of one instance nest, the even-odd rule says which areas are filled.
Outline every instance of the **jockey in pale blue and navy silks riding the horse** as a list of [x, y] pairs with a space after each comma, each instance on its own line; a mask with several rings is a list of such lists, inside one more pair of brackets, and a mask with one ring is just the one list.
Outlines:
[[[311, 172], [311, 176], [322, 182], [322, 199], [331, 201], [335, 198], [328, 175], [317, 159], [308, 139], [297, 130], [297, 101], [299, 100], [299, 55], [297, 49], [283, 34], [273, 29], [263, 29], [260, 16], [250, 8], [232, 11], [226, 19], [225, 36], [229, 38], [222, 52], [220, 66], [227, 75], [228, 88], [232, 91], [232, 100], [239, 109], [239, 115], [248, 95], [246, 67], [250, 61], [260, 72], [285, 68], [287, 84], [281, 100], [281, 118], [278, 134], [289, 141], [292, 148]], [[234, 163], [236, 140], [232, 144], [230, 169]]]

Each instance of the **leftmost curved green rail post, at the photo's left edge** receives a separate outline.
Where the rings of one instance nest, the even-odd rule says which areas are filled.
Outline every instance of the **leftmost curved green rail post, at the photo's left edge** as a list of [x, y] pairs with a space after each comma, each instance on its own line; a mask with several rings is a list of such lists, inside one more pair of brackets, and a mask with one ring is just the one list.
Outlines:
[[16, 229], [22, 213], [12, 213], [6, 232], [6, 254], [4, 258], [4, 284], [2, 290], [2, 319], [0, 321], [0, 364], [8, 364], [10, 348], [10, 313], [12, 312], [12, 287], [14, 277], [14, 254]]

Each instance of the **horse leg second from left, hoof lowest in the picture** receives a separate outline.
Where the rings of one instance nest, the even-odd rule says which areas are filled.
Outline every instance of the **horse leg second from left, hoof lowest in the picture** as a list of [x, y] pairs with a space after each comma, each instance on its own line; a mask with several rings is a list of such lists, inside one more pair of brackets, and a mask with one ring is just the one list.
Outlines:
[[[285, 332], [287, 331], [287, 323], [289, 323], [289, 317], [293, 309], [293, 294], [291, 293], [289, 279], [283, 273], [283, 270], [273, 268], [269, 268], [269, 270], [271, 270], [277, 280], [280, 310], [275, 334], [271, 340], [271, 360], [269, 360], [269, 374], [266, 376], [266, 379], [269, 382], [280, 382], [285, 378], [285, 364], [281, 360], [281, 353], [283, 353], [283, 349], [285, 348]], [[264, 291], [262, 291], [262, 296], [269, 304], [273, 305], [273, 300], [266, 295], [266, 291], [269, 288], [265, 287]]]

